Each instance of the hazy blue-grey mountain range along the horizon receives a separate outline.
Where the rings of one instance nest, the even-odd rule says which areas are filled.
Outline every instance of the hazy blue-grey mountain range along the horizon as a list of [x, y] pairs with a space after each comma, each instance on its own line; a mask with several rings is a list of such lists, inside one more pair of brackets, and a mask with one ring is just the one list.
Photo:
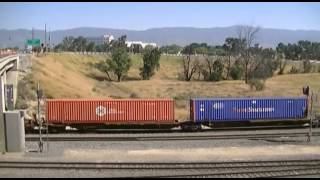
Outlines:
[[[127, 40], [154, 42], [159, 46], [177, 44], [207, 43], [210, 45], [223, 44], [226, 37], [237, 37], [237, 26], [215, 27], [215, 28], [193, 28], [193, 27], [170, 27], [152, 28], [143, 31], [80, 27], [67, 30], [56, 30], [51, 32], [51, 42], [58, 44], [66, 36], [98, 37], [104, 34], [113, 35], [115, 38], [127, 35]], [[47, 34], [48, 39], [49, 34]], [[31, 39], [32, 31], [27, 29], [6, 30], [0, 29], [0, 48], [24, 47], [26, 39]], [[44, 40], [44, 30], [34, 30], [34, 37]], [[314, 30], [284, 30], [261, 28], [257, 34], [257, 42], [264, 47], [275, 47], [279, 42], [295, 43], [299, 40], [320, 42], [320, 31]]]

